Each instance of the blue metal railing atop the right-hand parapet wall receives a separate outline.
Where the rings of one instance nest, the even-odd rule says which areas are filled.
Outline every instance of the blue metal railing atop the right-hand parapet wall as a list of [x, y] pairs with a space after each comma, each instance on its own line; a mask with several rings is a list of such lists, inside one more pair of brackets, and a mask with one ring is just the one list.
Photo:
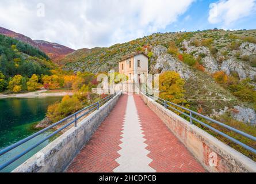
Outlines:
[[[183, 106], [174, 104], [174, 103], [172, 103], [172, 102], [166, 101], [165, 99], [162, 99], [162, 98], [156, 97], [156, 96], [154, 96], [154, 95], [151, 95], [151, 94], [149, 94], [149, 93], [147, 93], [147, 92], [145, 92], [144, 94], [145, 94], [147, 97], [150, 97], [151, 99], [154, 99], [154, 101], [158, 102], [158, 104], [161, 104], [161, 105], [164, 106], [166, 109], [170, 108], [170, 109], [172, 109], [172, 110], [174, 110], [174, 111], [177, 111], [177, 112], [183, 114], [184, 116], [188, 117], [189, 120], [190, 120], [190, 124], [193, 124], [193, 121], [196, 121], [196, 122], [198, 122], [199, 124], [203, 125], [204, 127], [207, 127], [207, 128], [209, 128], [209, 129], [211, 129], [211, 131], [216, 132], [216, 133], [218, 133], [219, 135], [221, 135], [221, 136], [223, 136], [223, 137], [226, 137], [227, 139], [231, 140], [232, 142], [234, 142], [234, 143], [236, 143], [236, 144], [242, 146], [242, 147], [245, 148], [246, 150], [248, 150], [248, 151], [253, 152], [254, 154], [256, 154], [256, 150], [255, 150], [254, 148], [252, 148], [252, 147], [250, 147], [249, 145], [246, 145], [246, 144], [240, 142], [239, 140], [234, 139], [234, 138], [231, 137], [231, 136], [228, 136], [226, 133], [223, 133], [223, 132], [217, 130], [216, 128], [211, 127], [210, 125], [206, 124], [205, 122], [202, 122], [202, 121], [198, 120], [196, 117], [193, 117], [193, 115], [196, 115], [196, 116], [198, 116], [198, 117], [204, 118], [205, 120], [208, 120], [208, 121], [213, 122], [213, 123], [215, 123], [215, 124], [217, 124], [217, 125], [220, 125], [221, 127], [227, 128], [228, 130], [233, 131], [233, 132], [235, 132], [235, 133], [238, 133], [239, 135], [242, 135], [242, 136], [244, 136], [244, 137], [247, 137], [248, 139], [251, 139], [251, 140], [253, 140], [253, 141], [256, 141], [256, 137], [251, 136], [251, 135], [249, 135], [249, 134], [247, 134], [247, 133], [244, 133], [244, 132], [242, 132], [242, 131], [239, 131], [238, 129], [232, 128], [232, 127], [230, 127], [230, 126], [228, 126], [228, 125], [226, 125], [226, 124], [223, 124], [222, 122], [213, 120], [212, 118], [209, 118], [209, 117], [207, 117], [207, 116], [204, 116], [204, 115], [202, 115], [202, 114], [200, 114], [200, 113], [194, 112], [193, 110], [190, 110], [190, 109], [188, 109], [188, 108], [184, 108]], [[183, 110], [185, 110], [186, 112], [189, 112], [189, 114], [187, 114], [187, 113], [185, 113], [185, 112], [182, 112], [181, 110], [176, 109], [176, 108], [174, 108], [174, 107], [183, 109]]]

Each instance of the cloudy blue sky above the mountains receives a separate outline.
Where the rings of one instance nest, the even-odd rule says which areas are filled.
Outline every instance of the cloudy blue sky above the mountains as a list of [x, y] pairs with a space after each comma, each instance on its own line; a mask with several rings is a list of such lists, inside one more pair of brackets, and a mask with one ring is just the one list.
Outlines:
[[155, 32], [256, 29], [256, 0], [1, 0], [0, 26], [73, 49]]

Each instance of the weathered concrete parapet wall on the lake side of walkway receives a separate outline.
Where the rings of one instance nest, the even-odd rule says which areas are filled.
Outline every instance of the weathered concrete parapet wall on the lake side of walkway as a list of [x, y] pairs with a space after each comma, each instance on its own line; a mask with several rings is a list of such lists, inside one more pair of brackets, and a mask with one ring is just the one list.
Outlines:
[[111, 99], [108, 103], [101, 106], [99, 110], [91, 113], [85, 119], [78, 123], [77, 127], [68, 129], [56, 140], [52, 141], [47, 147], [39, 153], [44, 155], [44, 165], [38, 166], [37, 155], [26, 160], [21, 166], [16, 168], [14, 173], [59, 173], [63, 172], [68, 164], [87, 143], [95, 130], [113, 109], [119, 100], [121, 92]]

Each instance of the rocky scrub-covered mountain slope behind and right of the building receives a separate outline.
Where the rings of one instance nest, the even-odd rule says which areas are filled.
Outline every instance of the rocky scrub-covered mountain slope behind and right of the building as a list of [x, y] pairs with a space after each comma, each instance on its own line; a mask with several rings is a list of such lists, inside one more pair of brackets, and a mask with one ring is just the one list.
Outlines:
[[75, 72], [117, 71], [119, 60], [132, 52], [150, 56], [151, 74], [176, 71], [186, 79], [185, 97], [194, 110], [208, 116], [230, 113], [236, 120], [256, 124], [254, 97], [250, 96], [250, 101], [238, 98], [238, 93], [226, 87], [229, 84], [224, 86], [213, 79], [213, 74], [224, 71], [233, 80], [235, 90], [244, 85], [239, 81], [246, 78], [251, 81], [245, 91], [256, 86], [256, 30], [155, 33], [93, 53], [74, 52], [63, 68]]

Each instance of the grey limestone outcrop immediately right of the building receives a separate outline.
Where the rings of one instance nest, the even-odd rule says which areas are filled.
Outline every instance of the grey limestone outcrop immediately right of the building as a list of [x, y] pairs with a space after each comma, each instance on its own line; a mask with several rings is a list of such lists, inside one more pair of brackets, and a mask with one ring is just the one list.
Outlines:
[[175, 71], [181, 75], [181, 78], [189, 79], [194, 76], [192, 71], [186, 66], [186, 64], [179, 62], [170, 54], [163, 54], [158, 57], [154, 66], [156, 73], [162, 73], [165, 71]]

